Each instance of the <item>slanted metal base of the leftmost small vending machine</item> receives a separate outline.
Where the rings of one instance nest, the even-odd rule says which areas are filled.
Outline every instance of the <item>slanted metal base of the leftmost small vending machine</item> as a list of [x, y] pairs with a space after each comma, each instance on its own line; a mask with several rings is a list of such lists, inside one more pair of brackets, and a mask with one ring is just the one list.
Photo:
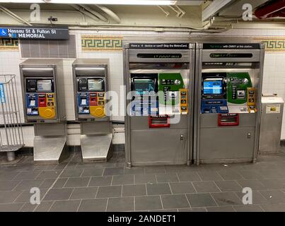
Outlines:
[[66, 136], [35, 136], [35, 164], [58, 164], [67, 157], [69, 157], [69, 151], [66, 145]]

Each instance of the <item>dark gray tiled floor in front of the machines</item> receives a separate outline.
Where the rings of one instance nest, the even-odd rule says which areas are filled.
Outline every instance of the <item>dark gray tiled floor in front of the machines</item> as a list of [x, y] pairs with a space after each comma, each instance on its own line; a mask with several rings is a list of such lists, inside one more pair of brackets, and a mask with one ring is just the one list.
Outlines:
[[[253, 204], [243, 205], [243, 188]], [[40, 205], [30, 189], [40, 188]], [[124, 153], [81, 163], [74, 152], [60, 165], [25, 156], [0, 165], [0, 211], [285, 211], [285, 154], [256, 164], [124, 167]]]

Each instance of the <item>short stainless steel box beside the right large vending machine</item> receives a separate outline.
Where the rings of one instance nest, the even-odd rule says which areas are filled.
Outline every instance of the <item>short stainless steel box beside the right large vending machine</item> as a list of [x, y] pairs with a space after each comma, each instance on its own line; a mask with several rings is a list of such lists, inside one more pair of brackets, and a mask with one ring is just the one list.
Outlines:
[[284, 100], [275, 95], [262, 96], [260, 153], [279, 153]]

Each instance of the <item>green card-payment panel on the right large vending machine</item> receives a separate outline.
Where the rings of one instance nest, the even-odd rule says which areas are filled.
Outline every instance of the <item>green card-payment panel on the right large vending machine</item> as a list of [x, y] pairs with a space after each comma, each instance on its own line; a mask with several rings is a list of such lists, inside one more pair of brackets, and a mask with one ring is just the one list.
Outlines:
[[252, 87], [250, 75], [247, 72], [227, 73], [228, 102], [244, 104], [247, 100], [247, 88]]

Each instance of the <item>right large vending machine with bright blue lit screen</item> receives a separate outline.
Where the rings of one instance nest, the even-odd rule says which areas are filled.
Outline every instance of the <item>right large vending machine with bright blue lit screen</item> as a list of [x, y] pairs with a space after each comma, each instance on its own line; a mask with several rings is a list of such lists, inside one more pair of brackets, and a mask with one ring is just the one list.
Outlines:
[[259, 148], [260, 43], [197, 44], [194, 158], [255, 162]]

